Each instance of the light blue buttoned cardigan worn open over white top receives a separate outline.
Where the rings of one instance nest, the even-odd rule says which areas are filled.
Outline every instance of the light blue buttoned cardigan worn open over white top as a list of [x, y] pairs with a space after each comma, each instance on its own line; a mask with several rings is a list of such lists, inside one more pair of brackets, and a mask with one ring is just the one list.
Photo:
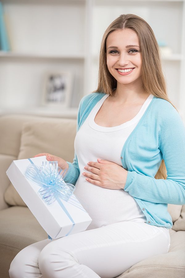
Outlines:
[[[77, 131], [104, 95], [92, 93], [81, 100]], [[170, 229], [167, 204], [185, 204], [185, 128], [176, 109], [168, 101], [153, 97], [120, 157], [123, 168], [128, 169], [124, 190], [134, 197], [148, 224]], [[154, 178], [162, 159], [167, 180]], [[76, 154], [73, 163], [68, 164], [64, 180], [75, 184], [80, 173]]]

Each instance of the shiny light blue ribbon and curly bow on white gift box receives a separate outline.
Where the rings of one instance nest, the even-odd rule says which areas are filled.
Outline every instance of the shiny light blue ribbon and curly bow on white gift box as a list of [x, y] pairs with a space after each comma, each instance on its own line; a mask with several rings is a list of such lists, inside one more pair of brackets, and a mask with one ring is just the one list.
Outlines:
[[[73, 224], [72, 228], [67, 233], [67, 235], [68, 235], [69, 233], [71, 233], [72, 229], [74, 228], [75, 222], [72, 219], [72, 217], [70, 216], [70, 214], [68, 213], [67, 209], [64, 207], [64, 205], [60, 199], [69, 201], [69, 199], [73, 195], [75, 186], [70, 183], [65, 183], [63, 181], [63, 178], [62, 178], [63, 176], [61, 174], [62, 169], [60, 167], [58, 167], [58, 161], [45, 161], [45, 163], [43, 162], [43, 165], [40, 168], [38, 166], [36, 166], [30, 158], [29, 158], [29, 161], [31, 162], [31, 164], [28, 166], [28, 168], [26, 170], [25, 177], [27, 177], [27, 179], [36, 183], [37, 185], [41, 186], [39, 193], [40, 193], [42, 199], [48, 205], [57, 201], [59, 203], [60, 207], [62, 207], [62, 209], [67, 214], [67, 216], [69, 217], [69, 219], [71, 220], [71, 222]], [[74, 200], [73, 201], [71, 200], [70, 203], [79, 207], [74, 202]], [[81, 207], [79, 207], [79, 208], [81, 209]], [[59, 231], [59, 233], [60, 233], [60, 231]], [[48, 236], [48, 237], [51, 239], [50, 236]]]

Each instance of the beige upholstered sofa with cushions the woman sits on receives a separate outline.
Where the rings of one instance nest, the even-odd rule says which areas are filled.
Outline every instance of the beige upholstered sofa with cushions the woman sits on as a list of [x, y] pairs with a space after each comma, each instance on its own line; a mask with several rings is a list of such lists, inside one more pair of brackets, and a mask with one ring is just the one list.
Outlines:
[[[72, 161], [76, 120], [6, 115], [0, 117], [0, 132], [0, 278], [8, 278], [14, 256], [47, 234], [10, 184], [6, 169], [12, 160], [40, 152]], [[169, 253], [141, 261], [119, 278], [185, 277], [185, 205], [168, 210], [174, 222]]]

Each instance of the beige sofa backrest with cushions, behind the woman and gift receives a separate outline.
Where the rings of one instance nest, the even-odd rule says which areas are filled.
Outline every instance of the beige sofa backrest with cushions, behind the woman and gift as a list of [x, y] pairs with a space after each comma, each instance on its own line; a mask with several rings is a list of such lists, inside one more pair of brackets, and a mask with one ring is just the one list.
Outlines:
[[[76, 120], [8, 115], [0, 117], [0, 131], [0, 209], [7, 203], [25, 205], [6, 176], [12, 160], [31, 158], [41, 152], [73, 160]], [[185, 230], [185, 205], [170, 204], [168, 211], [173, 229]]]

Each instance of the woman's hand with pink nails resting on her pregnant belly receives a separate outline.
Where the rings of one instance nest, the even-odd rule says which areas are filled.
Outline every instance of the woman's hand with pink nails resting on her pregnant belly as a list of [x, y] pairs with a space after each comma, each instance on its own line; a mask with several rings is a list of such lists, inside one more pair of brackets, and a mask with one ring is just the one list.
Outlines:
[[127, 171], [114, 162], [97, 159], [98, 162], [88, 162], [84, 169], [91, 173], [82, 173], [92, 184], [109, 188], [123, 189], [127, 178]]

